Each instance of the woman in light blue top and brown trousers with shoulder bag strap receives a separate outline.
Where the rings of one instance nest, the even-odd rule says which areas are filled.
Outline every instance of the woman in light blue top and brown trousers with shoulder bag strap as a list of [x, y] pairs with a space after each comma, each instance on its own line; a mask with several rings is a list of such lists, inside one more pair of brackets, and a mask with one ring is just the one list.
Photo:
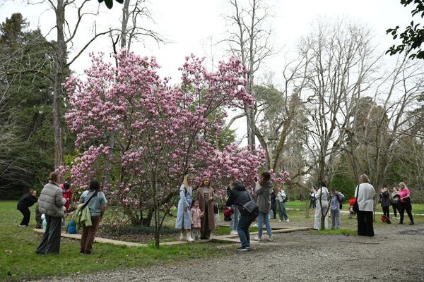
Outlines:
[[90, 209], [91, 226], [83, 225], [83, 235], [81, 236], [81, 254], [91, 255], [95, 234], [98, 231], [100, 221], [105, 214], [107, 200], [105, 194], [100, 191], [100, 183], [97, 180], [91, 180], [88, 190], [83, 192], [79, 200], [80, 203], [86, 203]]

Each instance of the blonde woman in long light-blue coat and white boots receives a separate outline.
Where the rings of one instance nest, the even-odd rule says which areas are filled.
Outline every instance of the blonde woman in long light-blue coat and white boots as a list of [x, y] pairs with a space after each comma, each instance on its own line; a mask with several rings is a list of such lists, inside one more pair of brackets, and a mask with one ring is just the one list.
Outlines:
[[194, 242], [192, 238], [192, 216], [190, 214], [193, 195], [192, 182], [191, 175], [184, 176], [183, 183], [179, 188], [177, 222], [175, 223], [175, 228], [181, 229], [179, 240], [189, 242]]

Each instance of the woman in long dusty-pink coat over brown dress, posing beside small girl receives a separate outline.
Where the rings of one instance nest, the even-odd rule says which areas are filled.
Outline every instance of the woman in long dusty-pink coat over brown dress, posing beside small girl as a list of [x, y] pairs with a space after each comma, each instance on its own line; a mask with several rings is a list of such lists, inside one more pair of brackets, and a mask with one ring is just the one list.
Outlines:
[[201, 210], [200, 238], [208, 240], [211, 238], [211, 230], [215, 229], [215, 214], [213, 212], [213, 189], [211, 180], [204, 177], [197, 190], [197, 200]]

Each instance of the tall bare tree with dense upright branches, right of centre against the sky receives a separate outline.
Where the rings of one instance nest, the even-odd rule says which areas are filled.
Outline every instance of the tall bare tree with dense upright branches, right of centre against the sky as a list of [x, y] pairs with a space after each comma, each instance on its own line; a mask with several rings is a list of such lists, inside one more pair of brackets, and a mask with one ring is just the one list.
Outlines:
[[[377, 59], [372, 56], [375, 48], [370, 38], [370, 31], [358, 25], [318, 22], [317, 29], [300, 43], [300, 51], [310, 58], [306, 145], [318, 183], [331, 180], [331, 164], [344, 145], [355, 102], [371, 87]], [[322, 228], [326, 212], [322, 211]]]

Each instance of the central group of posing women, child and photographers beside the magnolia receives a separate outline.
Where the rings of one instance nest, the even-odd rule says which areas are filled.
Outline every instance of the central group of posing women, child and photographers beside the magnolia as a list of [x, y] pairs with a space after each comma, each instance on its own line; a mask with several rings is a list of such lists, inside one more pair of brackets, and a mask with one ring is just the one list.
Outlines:
[[[276, 219], [277, 207], [280, 221], [289, 221], [285, 212], [287, 195], [283, 188], [273, 188], [271, 173], [261, 173], [255, 179], [254, 195], [247, 191], [245, 185], [239, 180], [231, 179], [227, 188], [227, 207], [224, 212], [225, 221], [230, 221], [230, 234], [239, 235], [240, 252], [250, 250], [249, 226], [257, 221], [257, 241], [269, 241], [272, 238], [271, 217]], [[179, 202], [177, 207], [177, 220], [175, 228], [180, 230], [179, 240], [193, 242], [194, 240], [207, 240], [211, 238], [211, 231], [215, 228], [214, 216], [215, 195], [211, 188], [211, 180], [204, 177], [199, 187], [194, 191], [193, 177], [184, 176], [179, 188]], [[196, 192], [196, 197], [194, 197]], [[194, 201], [192, 200], [194, 199]], [[254, 200], [256, 199], [256, 200]], [[266, 228], [266, 235], [263, 233]]]

